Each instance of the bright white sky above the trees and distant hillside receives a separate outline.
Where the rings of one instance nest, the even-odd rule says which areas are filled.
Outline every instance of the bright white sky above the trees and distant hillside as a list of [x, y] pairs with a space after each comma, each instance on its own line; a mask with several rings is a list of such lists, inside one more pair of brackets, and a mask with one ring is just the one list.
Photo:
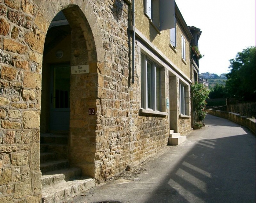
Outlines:
[[255, 46], [255, 0], [175, 0], [188, 26], [200, 28], [200, 73], [230, 72], [230, 59]]

